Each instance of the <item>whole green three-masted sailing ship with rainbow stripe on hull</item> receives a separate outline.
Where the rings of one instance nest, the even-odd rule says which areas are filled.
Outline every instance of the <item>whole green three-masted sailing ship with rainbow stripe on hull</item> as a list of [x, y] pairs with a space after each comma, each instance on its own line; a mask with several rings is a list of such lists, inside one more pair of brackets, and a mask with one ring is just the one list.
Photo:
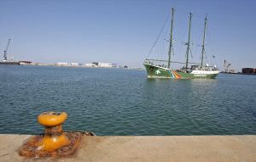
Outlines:
[[[207, 78], [214, 79], [218, 75], [218, 68], [216, 66], [209, 66], [209, 64], [204, 65], [203, 60], [205, 56], [205, 37], [206, 37], [206, 28], [207, 28], [207, 16], [205, 18], [204, 33], [203, 33], [203, 42], [201, 49], [201, 64], [190, 63], [189, 62], [189, 51], [190, 51], [190, 31], [191, 31], [191, 20], [192, 13], [189, 13], [189, 36], [188, 42], [185, 43], [187, 46], [186, 50], [186, 61], [185, 66], [180, 70], [172, 70], [171, 63], [180, 63], [171, 61], [172, 56], [172, 31], [173, 31], [173, 18], [174, 18], [175, 9], [172, 8], [172, 22], [171, 22], [171, 34], [170, 34], [170, 44], [168, 50], [168, 60], [160, 59], [146, 59], [144, 61], [144, 66], [148, 73], [148, 78], [175, 78], [175, 79], [195, 79], [195, 78]], [[165, 64], [157, 64], [159, 62], [165, 62]], [[191, 64], [191, 67], [189, 67]]]

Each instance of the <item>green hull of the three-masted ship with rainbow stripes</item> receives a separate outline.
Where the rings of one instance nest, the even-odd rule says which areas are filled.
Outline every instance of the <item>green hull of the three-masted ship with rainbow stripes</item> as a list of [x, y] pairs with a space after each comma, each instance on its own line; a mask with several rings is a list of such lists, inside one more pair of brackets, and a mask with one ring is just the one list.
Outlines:
[[[218, 71], [203, 71], [198, 74], [185, 73], [177, 70], [170, 70], [165, 67], [157, 66], [154, 64], [144, 64], [148, 78], [170, 78], [170, 79], [214, 79], [218, 75]], [[207, 74], [207, 72], [209, 74]]]

